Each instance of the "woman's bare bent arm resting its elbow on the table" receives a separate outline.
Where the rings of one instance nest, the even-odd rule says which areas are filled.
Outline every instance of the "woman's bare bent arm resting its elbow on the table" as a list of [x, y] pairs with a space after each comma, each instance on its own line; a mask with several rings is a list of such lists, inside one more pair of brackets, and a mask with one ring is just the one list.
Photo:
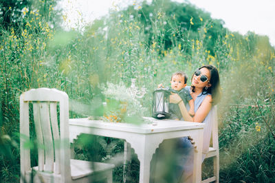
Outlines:
[[172, 94], [170, 95], [170, 103], [176, 103], [179, 105], [179, 109], [181, 111], [181, 115], [186, 121], [192, 121], [192, 122], [203, 122], [203, 120], [208, 115], [212, 104], [212, 96], [208, 95], [206, 98], [203, 99], [203, 102], [199, 106], [199, 109], [197, 109], [197, 112], [195, 113], [195, 116], [190, 116], [188, 114], [188, 111], [184, 105], [184, 102], [181, 100], [178, 94]]

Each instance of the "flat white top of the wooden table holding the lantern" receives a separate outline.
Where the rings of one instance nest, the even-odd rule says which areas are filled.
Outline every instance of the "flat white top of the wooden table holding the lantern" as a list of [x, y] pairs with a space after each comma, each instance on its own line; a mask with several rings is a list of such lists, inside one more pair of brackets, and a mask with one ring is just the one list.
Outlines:
[[157, 120], [144, 117], [145, 122], [140, 125], [123, 122], [104, 122], [102, 120], [88, 120], [88, 118], [69, 119], [69, 125], [91, 127], [96, 129], [109, 129], [132, 133], [161, 133], [166, 131], [181, 131], [188, 129], [202, 129], [205, 124], [200, 122], [187, 122], [180, 120]]

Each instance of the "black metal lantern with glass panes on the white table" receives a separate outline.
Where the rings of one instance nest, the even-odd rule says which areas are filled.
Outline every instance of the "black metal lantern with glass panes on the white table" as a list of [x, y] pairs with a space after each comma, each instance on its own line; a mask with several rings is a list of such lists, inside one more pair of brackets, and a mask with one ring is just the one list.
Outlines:
[[169, 118], [169, 96], [167, 89], [159, 88], [153, 92], [153, 118]]

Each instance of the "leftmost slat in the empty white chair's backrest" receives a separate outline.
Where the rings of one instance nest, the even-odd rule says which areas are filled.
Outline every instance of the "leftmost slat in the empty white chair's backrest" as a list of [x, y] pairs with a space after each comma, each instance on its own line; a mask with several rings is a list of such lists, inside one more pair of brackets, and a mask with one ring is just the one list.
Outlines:
[[45, 153], [44, 153], [44, 142], [43, 142], [43, 133], [41, 127], [41, 117], [39, 103], [33, 103], [34, 110], [34, 127], [36, 131], [36, 142], [38, 144], [38, 153], [39, 153], [39, 171], [44, 171], [45, 164]]

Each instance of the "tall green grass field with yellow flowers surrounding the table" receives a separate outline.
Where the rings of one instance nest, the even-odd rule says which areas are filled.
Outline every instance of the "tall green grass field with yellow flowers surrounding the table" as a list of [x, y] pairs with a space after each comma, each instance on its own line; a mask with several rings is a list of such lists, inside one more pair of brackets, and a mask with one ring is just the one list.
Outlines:
[[[267, 36], [219, 28], [222, 33], [214, 37], [217, 34], [210, 32], [215, 21], [201, 18], [199, 11], [197, 17], [188, 17], [188, 29], [181, 29], [175, 16], [162, 8], [146, 17], [145, 4], [131, 7], [110, 12], [83, 32], [56, 28], [36, 9], [24, 9], [17, 28], [0, 27], [0, 180], [19, 182], [22, 92], [60, 89], [75, 106], [70, 118], [102, 116], [102, 108], [91, 107], [104, 102], [102, 85], [130, 87], [131, 78], [136, 78], [137, 87], [146, 89], [137, 99], [146, 109], [142, 115], [151, 116], [157, 84], [168, 86], [170, 75], [178, 70], [190, 78], [197, 67], [212, 64], [219, 69], [223, 90], [218, 105], [220, 181], [275, 182], [275, 51]], [[52, 11], [47, 9], [48, 14]], [[76, 142], [77, 158], [108, 161], [123, 153], [122, 140], [92, 139], [93, 144], [85, 137]], [[138, 166], [133, 154], [127, 181], [138, 182]], [[119, 164], [115, 182], [122, 182], [122, 171]]]

